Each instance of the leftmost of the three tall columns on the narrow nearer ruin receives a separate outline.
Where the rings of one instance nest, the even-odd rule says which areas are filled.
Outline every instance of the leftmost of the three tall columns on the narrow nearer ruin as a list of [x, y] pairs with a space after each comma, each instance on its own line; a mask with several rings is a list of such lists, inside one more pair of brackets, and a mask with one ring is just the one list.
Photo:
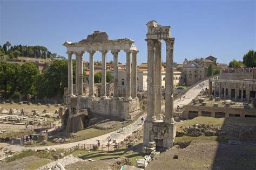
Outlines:
[[146, 121], [156, 121], [154, 116], [154, 41], [147, 41], [147, 117]]

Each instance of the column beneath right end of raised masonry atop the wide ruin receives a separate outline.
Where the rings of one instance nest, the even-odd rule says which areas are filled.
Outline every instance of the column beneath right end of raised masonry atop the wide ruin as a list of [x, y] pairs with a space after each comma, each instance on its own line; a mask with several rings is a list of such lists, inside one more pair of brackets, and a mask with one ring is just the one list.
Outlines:
[[106, 53], [107, 50], [99, 51], [102, 53], [102, 90], [100, 91], [102, 93], [102, 98], [106, 98]]

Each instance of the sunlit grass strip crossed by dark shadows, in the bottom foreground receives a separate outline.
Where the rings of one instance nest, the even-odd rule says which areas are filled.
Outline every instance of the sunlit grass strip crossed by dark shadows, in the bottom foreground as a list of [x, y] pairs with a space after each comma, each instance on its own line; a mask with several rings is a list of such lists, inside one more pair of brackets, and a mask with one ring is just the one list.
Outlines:
[[142, 154], [139, 152], [133, 152], [130, 154], [125, 154], [124, 151], [127, 147], [120, 148], [117, 151], [87, 151], [87, 150], [77, 150], [72, 153], [72, 155], [77, 156], [81, 159], [92, 159], [92, 160], [102, 160], [102, 159], [113, 159], [126, 157], [132, 162], [132, 165], [136, 165], [136, 159], [143, 159]]

